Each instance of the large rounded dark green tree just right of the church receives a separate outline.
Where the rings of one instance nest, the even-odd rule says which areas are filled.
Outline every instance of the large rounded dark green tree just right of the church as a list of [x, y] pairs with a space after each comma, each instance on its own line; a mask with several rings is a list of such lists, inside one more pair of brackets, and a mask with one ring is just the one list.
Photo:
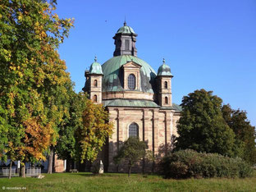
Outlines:
[[231, 157], [240, 153], [235, 134], [222, 117], [221, 98], [212, 91], [195, 90], [182, 99], [181, 107], [176, 149], [194, 149]]

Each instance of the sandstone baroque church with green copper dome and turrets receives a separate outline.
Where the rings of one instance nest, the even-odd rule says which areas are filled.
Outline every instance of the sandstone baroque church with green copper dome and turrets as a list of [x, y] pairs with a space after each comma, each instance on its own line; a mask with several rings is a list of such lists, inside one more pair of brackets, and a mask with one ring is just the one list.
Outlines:
[[85, 71], [85, 87], [94, 103], [102, 103], [114, 125], [99, 158], [105, 171], [118, 171], [113, 157], [130, 136], [144, 140], [155, 155], [167, 150], [172, 135], [176, 135], [176, 121], [181, 107], [172, 103], [170, 66], [165, 60], [156, 73], [149, 63], [137, 57], [137, 34], [126, 22], [113, 37], [113, 57], [91, 64]]

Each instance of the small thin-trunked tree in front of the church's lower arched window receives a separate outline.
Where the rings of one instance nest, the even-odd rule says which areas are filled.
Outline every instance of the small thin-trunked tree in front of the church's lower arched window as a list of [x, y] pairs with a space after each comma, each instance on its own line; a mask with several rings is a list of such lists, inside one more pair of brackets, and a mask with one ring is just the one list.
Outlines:
[[128, 165], [128, 176], [130, 176], [131, 167], [146, 156], [147, 145], [144, 141], [140, 141], [137, 137], [130, 137], [121, 146], [117, 156], [114, 157], [114, 162], [119, 164], [121, 161], [126, 161]]

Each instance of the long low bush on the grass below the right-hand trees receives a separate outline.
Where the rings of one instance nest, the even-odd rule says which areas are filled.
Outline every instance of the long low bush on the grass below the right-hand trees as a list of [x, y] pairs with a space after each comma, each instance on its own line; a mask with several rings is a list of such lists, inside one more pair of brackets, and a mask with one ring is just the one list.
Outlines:
[[217, 153], [198, 153], [181, 150], [162, 158], [160, 162], [165, 178], [209, 178], [252, 176], [253, 169], [241, 158], [229, 158]]

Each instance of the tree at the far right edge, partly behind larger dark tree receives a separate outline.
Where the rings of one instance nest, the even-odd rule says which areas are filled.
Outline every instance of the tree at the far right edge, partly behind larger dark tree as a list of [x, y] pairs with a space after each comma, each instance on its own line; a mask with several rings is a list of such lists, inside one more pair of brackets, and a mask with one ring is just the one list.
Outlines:
[[256, 133], [255, 127], [251, 126], [246, 112], [231, 109], [229, 104], [222, 106], [222, 114], [228, 126], [235, 132], [237, 142], [243, 143], [243, 154], [240, 158], [254, 164], [256, 162]]

